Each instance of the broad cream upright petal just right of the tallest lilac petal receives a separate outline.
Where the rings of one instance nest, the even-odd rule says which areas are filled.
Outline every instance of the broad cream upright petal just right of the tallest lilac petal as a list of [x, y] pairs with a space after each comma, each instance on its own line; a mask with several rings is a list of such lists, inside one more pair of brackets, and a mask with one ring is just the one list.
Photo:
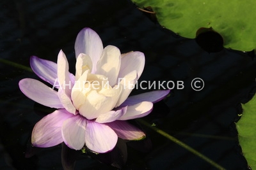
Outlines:
[[97, 63], [97, 74], [108, 77], [109, 85], [116, 84], [120, 69], [121, 53], [116, 46], [108, 45], [104, 48], [102, 56]]

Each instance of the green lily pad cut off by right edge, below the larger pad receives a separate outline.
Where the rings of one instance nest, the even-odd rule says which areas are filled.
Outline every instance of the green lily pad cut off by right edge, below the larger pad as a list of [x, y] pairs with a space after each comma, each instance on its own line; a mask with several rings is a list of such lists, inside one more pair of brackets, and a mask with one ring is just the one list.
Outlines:
[[256, 95], [242, 107], [243, 115], [236, 123], [239, 144], [248, 165], [256, 169]]

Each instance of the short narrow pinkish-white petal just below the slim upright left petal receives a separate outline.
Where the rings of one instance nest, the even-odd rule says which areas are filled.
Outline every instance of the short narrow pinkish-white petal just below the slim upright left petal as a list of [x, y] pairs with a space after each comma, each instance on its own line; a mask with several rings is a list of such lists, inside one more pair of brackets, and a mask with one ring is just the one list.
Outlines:
[[58, 97], [60, 99], [61, 104], [67, 111], [69, 111], [70, 113], [73, 113], [74, 115], [77, 114], [76, 108], [74, 107], [70, 97], [67, 96], [67, 94], [63, 89], [58, 90]]

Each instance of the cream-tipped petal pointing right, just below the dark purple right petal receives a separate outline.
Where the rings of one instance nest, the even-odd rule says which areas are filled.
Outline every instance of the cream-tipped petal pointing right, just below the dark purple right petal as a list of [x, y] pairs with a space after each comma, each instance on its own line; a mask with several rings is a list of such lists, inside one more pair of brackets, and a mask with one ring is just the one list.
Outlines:
[[134, 118], [140, 118], [147, 116], [153, 109], [153, 103], [148, 101], [143, 101], [132, 106], [127, 106], [126, 113], [118, 118], [118, 120], [130, 120]]

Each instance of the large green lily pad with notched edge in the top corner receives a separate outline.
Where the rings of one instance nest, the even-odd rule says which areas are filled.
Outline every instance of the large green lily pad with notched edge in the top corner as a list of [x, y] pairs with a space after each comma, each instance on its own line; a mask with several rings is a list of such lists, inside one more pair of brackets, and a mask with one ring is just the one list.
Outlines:
[[159, 24], [186, 38], [195, 38], [200, 27], [214, 29], [224, 46], [234, 50], [256, 48], [256, 1], [132, 0], [140, 8], [151, 6]]

